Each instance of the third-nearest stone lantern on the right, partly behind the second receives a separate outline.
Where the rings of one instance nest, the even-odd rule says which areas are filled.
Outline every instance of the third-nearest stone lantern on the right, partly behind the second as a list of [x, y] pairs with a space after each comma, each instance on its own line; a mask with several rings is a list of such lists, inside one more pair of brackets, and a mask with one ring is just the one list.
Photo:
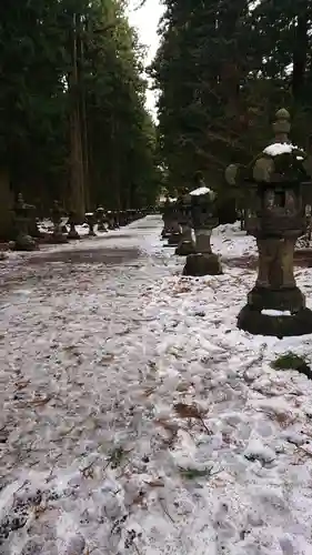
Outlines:
[[182, 194], [178, 201], [178, 223], [181, 229], [180, 242], [175, 249], [175, 254], [188, 256], [195, 253], [195, 245], [192, 238], [191, 205], [192, 196], [189, 193]]

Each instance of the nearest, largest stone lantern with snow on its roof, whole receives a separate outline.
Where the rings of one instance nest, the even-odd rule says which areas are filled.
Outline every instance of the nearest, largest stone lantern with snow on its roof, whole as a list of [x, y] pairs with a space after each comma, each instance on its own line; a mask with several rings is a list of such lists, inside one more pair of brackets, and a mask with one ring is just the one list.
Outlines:
[[246, 191], [246, 231], [256, 239], [259, 270], [255, 286], [241, 310], [238, 326], [252, 334], [312, 333], [312, 311], [295, 284], [294, 245], [305, 226], [305, 204], [312, 193], [306, 153], [289, 140], [290, 114], [276, 112], [272, 144], [249, 167], [231, 165], [230, 184]]

